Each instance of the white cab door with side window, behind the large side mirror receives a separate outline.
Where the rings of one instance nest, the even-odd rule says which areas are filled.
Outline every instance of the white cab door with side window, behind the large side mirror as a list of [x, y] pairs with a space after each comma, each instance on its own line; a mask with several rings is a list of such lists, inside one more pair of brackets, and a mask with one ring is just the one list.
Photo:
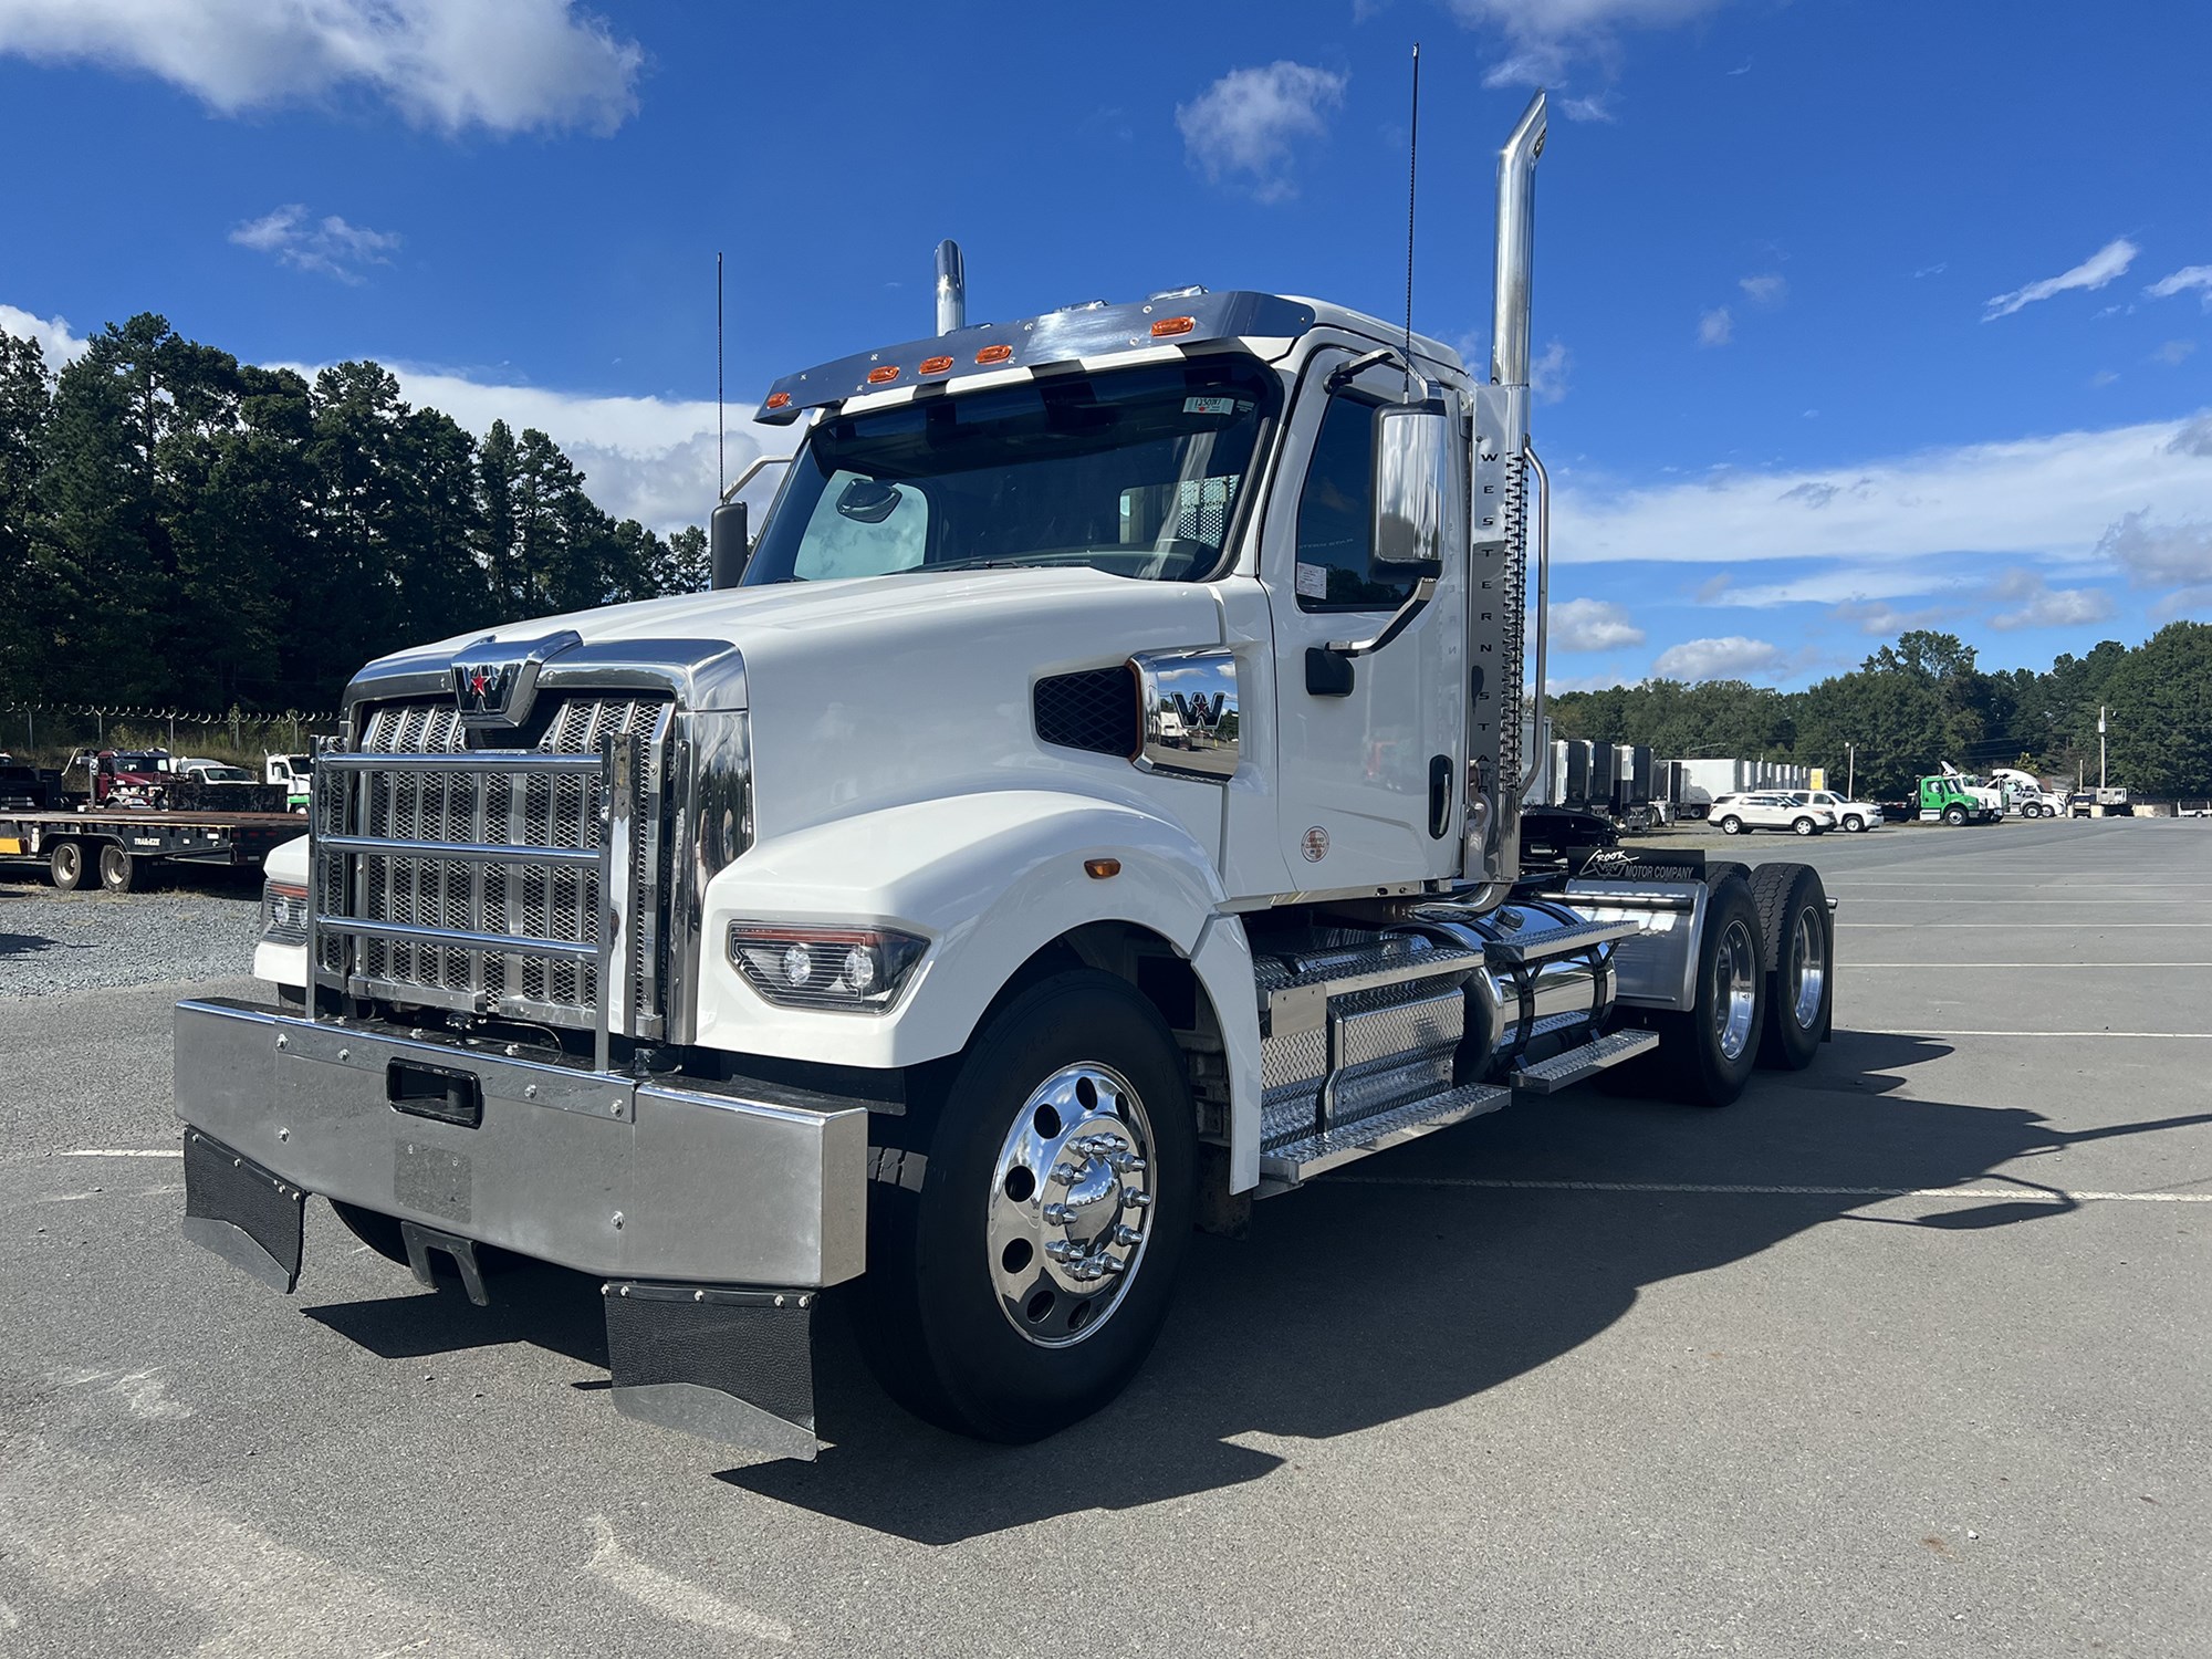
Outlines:
[[[1307, 372], [1267, 502], [1261, 584], [1276, 657], [1276, 834], [1298, 891], [1436, 880], [1460, 867], [1464, 480], [1447, 493], [1429, 604], [1367, 655], [1329, 653], [1383, 635], [1420, 584], [1378, 562], [1374, 540], [1378, 427], [1402, 394], [1398, 367], [1338, 387]], [[1464, 453], [1453, 469], [1464, 469]]]

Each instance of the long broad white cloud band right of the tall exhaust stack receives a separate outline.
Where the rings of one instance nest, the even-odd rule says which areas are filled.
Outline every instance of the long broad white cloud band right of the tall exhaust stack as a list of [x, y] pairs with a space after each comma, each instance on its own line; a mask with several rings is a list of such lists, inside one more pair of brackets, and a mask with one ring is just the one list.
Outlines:
[[1924, 593], [1924, 568], [1907, 566], [1931, 555], [2081, 557], [2143, 507], [2166, 520], [2212, 520], [2205, 460], [2212, 414], [1644, 489], [1577, 478], [1559, 489], [1555, 549], [1562, 564], [1849, 560], [1876, 575], [1896, 566], [1918, 586], [1796, 597]]

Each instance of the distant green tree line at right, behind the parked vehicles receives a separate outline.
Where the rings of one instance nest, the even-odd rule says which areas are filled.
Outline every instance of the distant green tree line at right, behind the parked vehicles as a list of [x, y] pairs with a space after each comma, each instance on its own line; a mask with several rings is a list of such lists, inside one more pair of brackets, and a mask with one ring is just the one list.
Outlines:
[[2051, 668], [1982, 670], [1973, 646], [1913, 630], [1856, 670], [1801, 692], [1741, 679], [1648, 679], [1559, 692], [1553, 737], [1650, 743], [1668, 759], [1736, 757], [1823, 765], [1840, 787], [1905, 796], [1951, 761], [2097, 781], [2097, 710], [2108, 708], [2110, 781], [2139, 794], [2212, 794], [2212, 624], [2170, 622], [2139, 646], [2106, 639]]

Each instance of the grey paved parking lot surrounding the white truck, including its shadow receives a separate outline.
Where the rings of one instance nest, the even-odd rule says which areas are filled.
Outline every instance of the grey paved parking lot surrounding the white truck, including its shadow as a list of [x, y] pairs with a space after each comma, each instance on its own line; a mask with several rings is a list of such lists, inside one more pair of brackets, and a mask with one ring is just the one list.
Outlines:
[[186, 1245], [181, 987], [27, 995], [0, 883], [0, 1650], [2212, 1652], [2212, 825], [1694, 841], [1843, 900], [1812, 1071], [1369, 1159], [1099, 1418], [843, 1378], [812, 1467], [617, 1418], [591, 1281]]

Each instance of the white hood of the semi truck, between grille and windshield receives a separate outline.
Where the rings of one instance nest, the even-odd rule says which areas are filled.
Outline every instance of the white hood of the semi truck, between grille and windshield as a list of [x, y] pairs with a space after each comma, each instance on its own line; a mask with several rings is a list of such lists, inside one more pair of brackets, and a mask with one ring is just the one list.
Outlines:
[[[1157, 794], [1166, 781], [1139, 774], [1121, 754], [1042, 743], [1035, 681], [1225, 637], [1214, 584], [1137, 582], [1091, 568], [726, 588], [538, 617], [489, 637], [511, 644], [564, 628], [602, 664], [619, 661], [626, 648], [639, 659], [692, 661], [712, 659], [714, 646], [734, 648], [692, 675], [688, 701], [750, 710], [761, 838], [958, 792]], [[456, 653], [482, 639], [453, 635], [372, 664], [365, 677], [442, 677]], [[577, 655], [571, 648], [551, 657], [546, 684]], [[1166, 787], [1219, 794], [1188, 783]]]

